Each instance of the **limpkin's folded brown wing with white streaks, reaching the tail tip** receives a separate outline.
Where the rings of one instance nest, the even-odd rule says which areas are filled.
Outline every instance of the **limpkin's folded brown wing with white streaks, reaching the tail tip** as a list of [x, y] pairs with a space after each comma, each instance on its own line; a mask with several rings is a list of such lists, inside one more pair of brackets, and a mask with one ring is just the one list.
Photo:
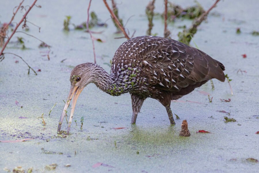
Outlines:
[[224, 65], [204, 52], [163, 37], [147, 39], [152, 48], [142, 58], [142, 70], [157, 88], [180, 91], [212, 78], [224, 82]]

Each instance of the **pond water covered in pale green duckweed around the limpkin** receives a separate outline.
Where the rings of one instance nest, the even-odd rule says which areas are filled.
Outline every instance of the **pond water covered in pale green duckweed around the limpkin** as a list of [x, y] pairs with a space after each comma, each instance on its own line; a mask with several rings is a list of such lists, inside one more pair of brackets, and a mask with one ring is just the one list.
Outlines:
[[[30, 5], [33, 1], [25, 1]], [[13, 170], [33, 167], [33, 172], [45, 172], [45, 166], [56, 163], [54, 172], [256, 172], [259, 163], [247, 158], [259, 159], [259, 114], [258, 50], [259, 37], [250, 33], [259, 30], [259, 3], [250, 1], [222, 1], [203, 22], [195, 43], [201, 50], [222, 62], [231, 81], [234, 95], [228, 82], [214, 80], [212, 91], [208, 82], [200, 88], [172, 102], [176, 125], [171, 126], [165, 108], [154, 99], [147, 99], [138, 114], [136, 125], [131, 125], [131, 98], [129, 94], [113, 97], [89, 84], [81, 93], [74, 113], [71, 134], [66, 138], [57, 136], [58, 121], [70, 88], [69, 76], [74, 66], [93, 62], [92, 42], [89, 33], [62, 30], [65, 16], [80, 24], [87, 19], [89, 1], [39, 1], [42, 8], [33, 7], [28, 21], [41, 27], [41, 32], [29, 24], [32, 34], [51, 45], [50, 60], [46, 48], [38, 48], [40, 42], [22, 33], [26, 50], [8, 44], [5, 52], [20, 55], [37, 72], [37, 76], [19, 58], [6, 55], [0, 63], [0, 139], [17, 140], [34, 138], [18, 143], [0, 143], [0, 172], [3, 168]], [[109, 2], [109, 1], [108, 1]], [[130, 35], [145, 35], [148, 21], [145, 16], [145, 1], [117, 1], [119, 16], [123, 22], [129, 19], [126, 28]], [[174, 1], [183, 7], [194, 5], [193, 1]], [[20, 1], [1, 2], [0, 21], [8, 22], [13, 7]], [[214, 1], [199, 0], [208, 9]], [[125, 38], [115, 34], [116, 28], [102, 1], [92, 1], [90, 11], [96, 12], [107, 28], [94, 37], [104, 42], [95, 42], [97, 63], [109, 71], [110, 60]], [[163, 1], [155, 3], [155, 12], [163, 11]], [[214, 14], [214, 15], [213, 15]], [[22, 14], [18, 14], [18, 22]], [[177, 40], [179, 26], [191, 24], [191, 20], [176, 20], [169, 24], [172, 38]], [[241, 33], [236, 34], [236, 29]], [[21, 30], [21, 29], [18, 29]], [[152, 33], [163, 36], [163, 20], [155, 17]], [[195, 46], [191, 42], [191, 46]], [[247, 58], [241, 55], [246, 54]], [[65, 61], [61, 62], [63, 59]], [[15, 61], [19, 61], [15, 63]], [[237, 71], [245, 70], [241, 74]], [[203, 91], [203, 92], [199, 92]], [[213, 97], [209, 102], [206, 94]], [[231, 99], [222, 102], [220, 99]], [[191, 102], [190, 102], [191, 101]], [[199, 103], [196, 103], [199, 102]], [[50, 116], [49, 111], [56, 103]], [[22, 106], [22, 108], [21, 108]], [[230, 112], [230, 115], [218, 111]], [[43, 126], [41, 114], [46, 125]], [[20, 116], [27, 117], [21, 119]], [[83, 129], [80, 119], [84, 117]], [[224, 116], [237, 122], [224, 122]], [[183, 120], [187, 120], [190, 137], [180, 137]], [[77, 125], [74, 122], [77, 120]], [[63, 121], [62, 129], [66, 129]], [[124, 129], [113, 129], [125, 127]], [[199, 130], [211, 133], [196, 133]], [[96, 163], [103, 163], [101, 166]], [[70, 164], [70, 167], [66, 167]], [[52, 172], [53, 172], [52, 171]]]

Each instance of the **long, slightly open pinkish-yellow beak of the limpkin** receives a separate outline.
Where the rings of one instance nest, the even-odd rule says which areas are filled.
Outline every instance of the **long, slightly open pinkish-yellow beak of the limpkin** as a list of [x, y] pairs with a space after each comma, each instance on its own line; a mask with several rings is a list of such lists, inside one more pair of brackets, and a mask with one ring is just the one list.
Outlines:
[[84, 88], [81, 89], [79, 86], [71, 86], [68, 97], [67, 97], [67, 100], [66, 100], [66, 103], [65, 103], [65, 106], [64, 106], [64, 109], [63, 109], [62, 114], [61, 114], [60, 119], [59, 119], [58, 133], [60, 133], [61, 125], [62, 125], [63, 119], [64, 119], [64, 117], [66, 115], [66, 112], [67, 112], [66, 109], [68, 108], [69, 103], [72, 100], [72, 97], [74, 96], [73, 102], [72, 102], [71, 113], [70, 113], [70, 117], [69, 117], [69, 122], [68, 122], [68, 127], [67, 127], [67, 131], [66, 131], [66, 133], [69, 134], [70, 126], [71, 126], [71, 123], [72, 123], [72, 118], [73, 118], [73, 114], [74, 114], [74, 110], [75, 110], [75, 105], [77, 103], [77, 98], [80, 95], [80, 93], [83, 91], [83, 89]]

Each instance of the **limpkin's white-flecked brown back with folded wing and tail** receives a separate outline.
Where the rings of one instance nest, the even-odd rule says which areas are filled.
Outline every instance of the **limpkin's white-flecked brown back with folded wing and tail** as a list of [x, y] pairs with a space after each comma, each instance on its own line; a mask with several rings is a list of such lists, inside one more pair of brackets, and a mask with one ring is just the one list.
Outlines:
[[224, 65], [201, 50], [176, 40], [140, 36], [124, 42], [115, 52], [111, 75], [137, 67], [140, 75], [157, 89], [178, 92], [199, 87], [212, 78], [225, 80]]

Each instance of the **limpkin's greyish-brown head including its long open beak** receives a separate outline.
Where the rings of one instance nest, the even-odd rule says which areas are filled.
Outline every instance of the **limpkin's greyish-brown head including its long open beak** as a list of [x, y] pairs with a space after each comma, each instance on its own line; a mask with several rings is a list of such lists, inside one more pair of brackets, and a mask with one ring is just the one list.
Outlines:
[[85, 88], [85, 86], [89, 83], [94, 82], [94, 80], [96, 79], [95, 70], [97, 67], [98, 67], [98, 65], [93, 64], [93, 63], [83, 63], [83, 64], [77, 65], [72, 70], [71, 75], [70, 75], [71, 88], [70, 88], [64, 109], [60, 116], [60, 120], [59, 120], [59, 124], [58, 124], [58, 132], [60, 132], [62, 121], [64, 119], [64, 116], [67, 113], [66, 109], [68, 108], [70, 101], [74, 97], [73, 101], [72, 101], [71, 113], [70, 113], [70, 118], [69, 118], [69, 123], [68, 123], [68, 129], [67, 129], [67, 134], [69, 133], [77, 99], [78, 99], [80, 93]]

